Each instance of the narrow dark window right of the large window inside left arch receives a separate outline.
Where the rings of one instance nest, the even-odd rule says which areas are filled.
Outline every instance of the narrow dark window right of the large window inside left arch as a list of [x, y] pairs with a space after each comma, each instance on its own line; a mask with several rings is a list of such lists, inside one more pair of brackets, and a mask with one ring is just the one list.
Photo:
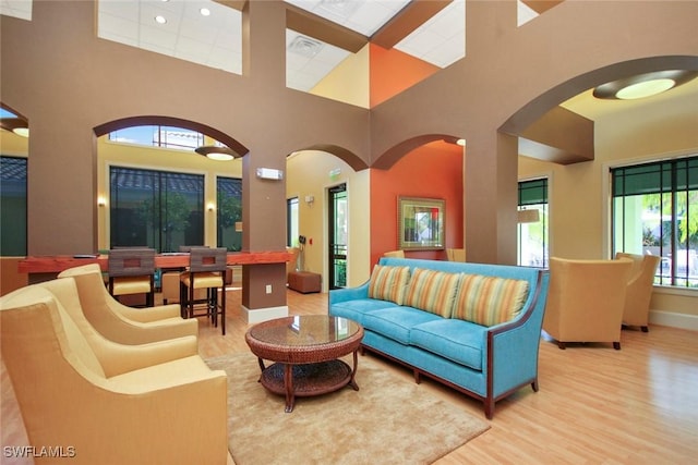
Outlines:
[[242, 180], [218, 178], [217, 204], [218, 247], [239, 252], [242, 249]]

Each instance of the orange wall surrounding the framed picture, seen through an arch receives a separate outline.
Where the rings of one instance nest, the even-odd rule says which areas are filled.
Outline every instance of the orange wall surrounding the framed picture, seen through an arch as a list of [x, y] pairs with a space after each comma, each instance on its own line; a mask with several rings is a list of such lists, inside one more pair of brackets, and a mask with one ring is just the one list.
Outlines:
[[[429, 169], [426, 169], [429, 167]], [[462, 148], [444, 142], [423, 145], [389, 170], [371, 170], [371, 264], [397, 249], [399, 196], [446, 200], [446, 247], [462, 248]], [[446, 250], [406, 252], [409, 258], [446, 259]]]

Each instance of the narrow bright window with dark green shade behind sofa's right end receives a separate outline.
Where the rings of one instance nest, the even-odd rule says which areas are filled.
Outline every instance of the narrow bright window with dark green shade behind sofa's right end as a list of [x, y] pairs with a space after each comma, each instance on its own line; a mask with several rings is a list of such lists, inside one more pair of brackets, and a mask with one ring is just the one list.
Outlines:
[[518, 265], [547, 268], [547, 179], [519, 182]]

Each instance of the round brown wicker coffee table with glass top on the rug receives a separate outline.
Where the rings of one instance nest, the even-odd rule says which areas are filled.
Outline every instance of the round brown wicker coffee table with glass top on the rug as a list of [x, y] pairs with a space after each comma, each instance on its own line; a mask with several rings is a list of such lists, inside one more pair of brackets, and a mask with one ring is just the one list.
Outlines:
[[[320, 395], [351, 386], [356, 391], [357, 351], [363, 327], [347, 318], [301, 315], [257, 323], [244, 336], [260, 360], [260, 382], [286, 395], [286, 412], [297, 396]], [[353, 368], [338, 359], [353, 354]], [[274, 362], [266, 367], [264, 360]]]

